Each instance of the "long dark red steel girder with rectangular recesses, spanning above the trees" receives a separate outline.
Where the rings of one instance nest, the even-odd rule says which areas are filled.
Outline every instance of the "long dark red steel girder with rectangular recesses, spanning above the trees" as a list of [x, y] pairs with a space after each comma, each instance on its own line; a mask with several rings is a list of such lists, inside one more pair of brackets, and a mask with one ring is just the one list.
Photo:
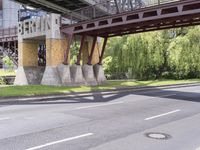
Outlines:
[[200, 1], [180, 0], [61, 27], [66, 34], [112, 37], [200, 24]]

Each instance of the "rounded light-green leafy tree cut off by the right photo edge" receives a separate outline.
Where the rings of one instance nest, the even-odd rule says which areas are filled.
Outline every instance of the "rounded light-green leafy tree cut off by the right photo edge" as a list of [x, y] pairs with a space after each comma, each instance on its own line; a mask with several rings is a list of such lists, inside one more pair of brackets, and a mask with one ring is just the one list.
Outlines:
[[190, 29], [185, 36], [175, 38], [170, 46], [169, 63], [178, 79], [200, 76], [200, 28]]

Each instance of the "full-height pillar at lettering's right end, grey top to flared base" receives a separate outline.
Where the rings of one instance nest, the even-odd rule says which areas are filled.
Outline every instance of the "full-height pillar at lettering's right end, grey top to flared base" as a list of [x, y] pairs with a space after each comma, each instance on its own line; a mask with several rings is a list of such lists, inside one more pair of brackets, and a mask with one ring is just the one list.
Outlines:
[[43, 75], [43, 85], [68, 85], [71, 76], [68, 65], [63, 65], [68, 39], [60, 32], [60, 15], [51, 14], [50, 30], [46, 32], [46, 69]]

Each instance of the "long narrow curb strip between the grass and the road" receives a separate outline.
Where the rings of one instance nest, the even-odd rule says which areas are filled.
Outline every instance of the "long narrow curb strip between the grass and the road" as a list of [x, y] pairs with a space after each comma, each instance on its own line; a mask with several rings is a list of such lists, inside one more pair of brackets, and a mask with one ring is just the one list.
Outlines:
[[169, 89], [169, 88], [181, 88], [188, 86], [199, 86], [200, 83], [185, 83], [185, 84], [173, 84], [173, 85], [162, 85], [162, 86], [137, 86], [137, 87], [126, 87], [126, 88], [117, 88], [113, 90], [100, 90], [93, 92], [75, 92], [68, 94], [52, 94], [52, 95], [38, 95], [38, 96], [17, 96], [17, 97], [0, 97], [0, 103], [5, 102], [25, 102], [25, 101], [43, 101], [43, 100], [54, 100], [58, 98], [70, 98], [70, 97], [85, 97], [92, 95], [109, 95], [123, 92], [140, 92], [145, 90], [158, 90], [158, 89]]

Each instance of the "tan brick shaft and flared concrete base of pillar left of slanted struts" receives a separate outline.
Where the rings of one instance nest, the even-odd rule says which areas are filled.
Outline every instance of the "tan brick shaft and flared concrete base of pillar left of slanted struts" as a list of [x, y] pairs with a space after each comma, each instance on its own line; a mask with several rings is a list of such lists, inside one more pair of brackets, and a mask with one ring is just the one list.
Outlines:
[[71, 83], [69, 66], [62, 65], [66, 48], [66, 38], [46, 39], [46, 69], [42, 79], [43, 85], [61, 86]]

